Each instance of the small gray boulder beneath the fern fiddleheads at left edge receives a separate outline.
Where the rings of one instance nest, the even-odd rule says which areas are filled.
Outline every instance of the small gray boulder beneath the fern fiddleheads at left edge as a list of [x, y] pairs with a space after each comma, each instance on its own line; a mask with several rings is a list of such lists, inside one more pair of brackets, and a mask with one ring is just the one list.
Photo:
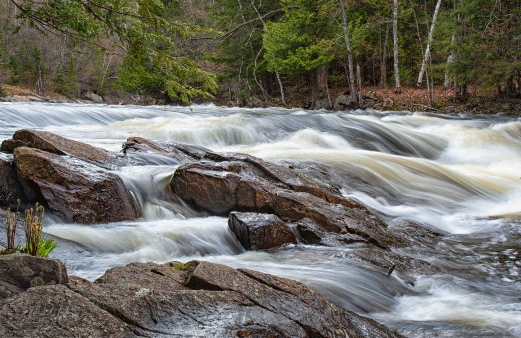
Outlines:
[[0, 299], [33, 286], [68, 282], [67, 268], [57, 259], [28, 254], [0, 255]]

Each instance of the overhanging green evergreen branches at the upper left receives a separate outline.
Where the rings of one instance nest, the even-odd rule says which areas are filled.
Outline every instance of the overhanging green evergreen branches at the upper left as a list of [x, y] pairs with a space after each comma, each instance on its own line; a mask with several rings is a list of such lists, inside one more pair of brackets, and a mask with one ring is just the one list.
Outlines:
[[[177, 45], [203, 31], [192, 23], [171, 20], [177, 2], [148, 0], [11, 0], [18, 18], [42, 32], [63, 34], [78, 41], [107, 48], [101, 40], [116, 37], [125, 56], [119, 84], [123, 89], [165, 93], [189, 103], [195, 96], [208, 97], [217, 84]], [[204, 30], [210, 32], [210, 30]]]

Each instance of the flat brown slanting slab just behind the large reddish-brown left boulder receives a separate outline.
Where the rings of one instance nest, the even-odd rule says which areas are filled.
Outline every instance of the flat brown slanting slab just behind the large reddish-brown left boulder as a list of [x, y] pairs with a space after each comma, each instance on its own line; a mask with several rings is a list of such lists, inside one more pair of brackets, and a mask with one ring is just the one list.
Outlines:
[[[118, 161], [118, 156], [103, 149], [69, 140], [47, 131], [21, 129], [15, 132], [13, 140], [26, 143], [30, 148], [40, 149], [57, 155], [74, 156], [97, 165]], [[121, 159], [119, 158], [119, 160]]]

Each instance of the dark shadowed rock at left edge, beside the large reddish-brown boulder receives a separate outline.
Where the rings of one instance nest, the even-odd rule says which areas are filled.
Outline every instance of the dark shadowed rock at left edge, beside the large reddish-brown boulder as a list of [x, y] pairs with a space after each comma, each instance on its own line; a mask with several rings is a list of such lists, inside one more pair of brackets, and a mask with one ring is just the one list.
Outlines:
[[0, 206], [16, 204], [16, 200], [27, 202], [26, 194], [16, 176], [16, 169], [11, 164], [12, 156], [0, 153]]

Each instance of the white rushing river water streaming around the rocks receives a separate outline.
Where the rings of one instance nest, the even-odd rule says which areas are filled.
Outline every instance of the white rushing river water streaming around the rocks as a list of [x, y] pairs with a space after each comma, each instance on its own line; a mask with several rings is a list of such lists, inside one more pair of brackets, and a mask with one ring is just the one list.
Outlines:
[[[179, 163], [117, 173], [135, 195], [137, 221], [84, 226], [47, 217], [70, 274], [94, 280], [132, 261], [204, 259], [306, 283], [341, 306], [409, 337], [521, 336], [521, 120], [426, 112], [0, 105], [0, 140], [21, 128], [51, 131], [109, 151], [128, 136], [251, 154], [337, 186], [407, 236], [414, 222], [441, 232], [400, 253], [426, 260], [414, 286], [342, 253], [292, 245], [245, 251], [227, 219], [173, 203]], [[362, 182], [362, 183], [361, 183]]]

